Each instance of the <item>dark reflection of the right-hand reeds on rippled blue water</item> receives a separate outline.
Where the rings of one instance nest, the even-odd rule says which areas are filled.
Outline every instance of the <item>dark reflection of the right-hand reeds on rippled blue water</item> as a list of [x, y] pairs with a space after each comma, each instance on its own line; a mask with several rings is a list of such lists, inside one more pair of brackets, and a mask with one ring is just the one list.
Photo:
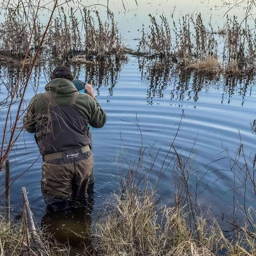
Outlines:
[[221, 103], [228, 97], [228, 103], [232, 100], [233, 94], [242, 95], [241, 105], [244, 104], [244, 97], [249, 90], [251, 96], [254, 80], [252, 77], [228, 78], [220, 76], [208, 76], [189, 70], [175, 69], [164, 60], [138, 58], [141, 83], [147, 85], [148, 104], [153, 104], [153, 98], [163, 98], [164, 90], [170, 88], [170, 100], [193, 100], [197, 101], [200, 92], [208, 92], [210, 89], [217, 89], [221, 93]]

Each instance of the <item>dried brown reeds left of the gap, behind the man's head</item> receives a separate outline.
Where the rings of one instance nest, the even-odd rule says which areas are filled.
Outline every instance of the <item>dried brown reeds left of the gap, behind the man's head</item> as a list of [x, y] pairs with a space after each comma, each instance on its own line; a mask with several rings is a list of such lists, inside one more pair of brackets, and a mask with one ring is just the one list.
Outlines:
[[[126, 59], [127, 49], [113, 14], [109, 12], [109, 20], [103, 22], [97, 10], [94, 18], [89, 9], [79, 7], [79, 10], [81, 20], [78, 20], [72, 7], [64, 9], [61, 5], [58, 8], [58, 15], [55, 14], [51, 20], [40, 52], [60, 64], [70, 60], [87, 63], [89, 57], [104, 59], [111, 54], [117, 59]], [[0, 63], [18, 65], [28, 47], [28, 56], [33, 56], [45, 25], [40, 23], [38, 16], [33, 21], [29, 20], [19, 8], [8, 8], [3, 18], [0, 22]], [[32, 40], [29, 42], [32, 28]], [[84, 58], [73, 58], [76, 55], [83, 55]]]

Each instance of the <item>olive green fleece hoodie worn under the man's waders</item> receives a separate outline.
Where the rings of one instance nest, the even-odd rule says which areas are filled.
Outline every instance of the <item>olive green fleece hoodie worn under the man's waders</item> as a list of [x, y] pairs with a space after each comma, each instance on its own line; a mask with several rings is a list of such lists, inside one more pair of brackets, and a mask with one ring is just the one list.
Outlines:
[[[69, 105], [73, 95], [77, 92], [75, 85], [67, 79], [56, 78], [45, 85], [45, 91], [49, 92], [53, 100], [59, 106]], [[81, 116], [88, 119], [94, 128], [101, 128], [106, 123], [106, 114], [95, 98], [85, 93], [80, 93], [75, 104]], [[47, 112], [48, 104], [42, 93], [36, 94], [29, 102], [28, 111], [23, 116], [23, 124], [26, 131], [36, 132], [36, 121], [40, 121], [42, 113]]]

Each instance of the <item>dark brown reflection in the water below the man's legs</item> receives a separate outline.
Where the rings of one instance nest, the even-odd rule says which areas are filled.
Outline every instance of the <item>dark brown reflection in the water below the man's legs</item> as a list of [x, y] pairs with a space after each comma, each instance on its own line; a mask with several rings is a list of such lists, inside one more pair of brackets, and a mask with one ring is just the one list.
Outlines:
[[[42, 217], [41, 227], [58, 242], [69, 248], [70, 256], [91, 255], [91, 213], [94, 196], [88, 197], [86, 204], [79, 203], [66, 211], [47, 213]], [[85, 254], [84, 254], [85, 253]]]

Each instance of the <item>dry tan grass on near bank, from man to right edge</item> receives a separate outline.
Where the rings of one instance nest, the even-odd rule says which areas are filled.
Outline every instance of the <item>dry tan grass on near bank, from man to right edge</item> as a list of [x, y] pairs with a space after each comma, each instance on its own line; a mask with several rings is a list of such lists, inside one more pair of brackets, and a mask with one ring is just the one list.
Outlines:
[[96, 223], [95, 255], [213, 256], [224, 252], [241, 256], [255, 253], [256, 234], [248, 231], [248, 227], [239, 228], [233, 233], [235, 237], [228, 239], [210, 212], [203, 214], [200, 209], [194, 209], [191, 223], [187, 207], [184, 211], [179, 203], [175, 207], [160, 207], [154, 191], [138, 187], [121, 191], [112, 194], [109, 200], [112, 203]]

